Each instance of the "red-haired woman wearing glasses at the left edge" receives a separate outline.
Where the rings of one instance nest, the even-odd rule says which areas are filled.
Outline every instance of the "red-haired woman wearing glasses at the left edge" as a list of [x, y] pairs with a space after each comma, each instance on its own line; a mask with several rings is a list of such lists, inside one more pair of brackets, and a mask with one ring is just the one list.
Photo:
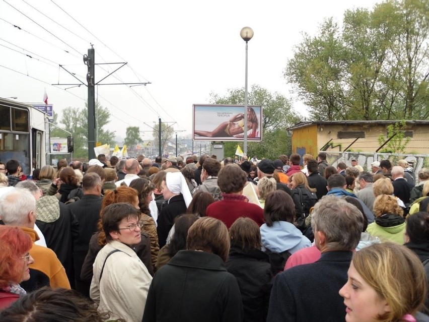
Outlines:
[[30, 236], [14, 226], [0, 226], [0, 311], [26, 294], [19, 285], [30, 279]]

